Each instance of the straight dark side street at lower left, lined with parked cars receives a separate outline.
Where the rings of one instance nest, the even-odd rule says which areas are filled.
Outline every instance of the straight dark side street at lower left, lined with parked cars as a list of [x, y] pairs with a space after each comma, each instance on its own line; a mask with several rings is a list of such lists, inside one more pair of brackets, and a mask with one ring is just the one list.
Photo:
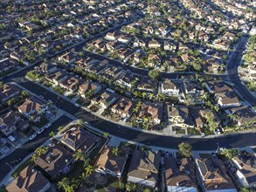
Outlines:
[[[0, 181], [2, 181], [4, 176], [9, 173], [10, 166], [15, 166], [15, 161], [17, 159], [24, 159], [24, 157], [26, 157], [28, 154], [31, 154], [35, 150], [35, 148], [41, 146], [45, 141], [50, 139], [49, 133], [51, 131], [57, 131], [59, 126], [66, 126], [71, 121], [72, 120], [68, 118], [66, 115], [62, 115], [61, 117], [59, 117], [58, 120], [55, 120], [52, 123], [51, 127], [46, 128], [43, 133], [38, 134], [35, 139], [27, 141], [22, 147], [18, 147], [13, 153], [9, 154], [8, 156], [0, 160]], [[10, 166], [5, 164], [6, 162], [10, 164]]]

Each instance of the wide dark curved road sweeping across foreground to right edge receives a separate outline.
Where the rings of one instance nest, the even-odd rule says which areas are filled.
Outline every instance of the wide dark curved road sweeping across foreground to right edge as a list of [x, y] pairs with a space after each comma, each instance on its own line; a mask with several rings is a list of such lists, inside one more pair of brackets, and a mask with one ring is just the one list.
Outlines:
[[57, 94], [48, 91], [47, 89], [38, 86], [29, 80], [26, 82], [19, 82], [18, 84], [20, 86], [24, 86], [26, 89], [33, 93], [43, 95], [45, 99], [51, 99], [54, 105], [58, 106], [67, 113], [73, 114], [73, 116], [77, 117], [78, 119], [89, 121], [93, 127], [128, 141], [135, 141], [143, 144], [147, 144], [149, 142], [152, 146], [170, 148], [176, 148], [180, 142], [187, 141], [193, 146], [195, 150], [214, 150], [217, 148], [217, 142], [219, 143], [220, 147], [245, 147], [256, 145], [256, 133], [236, 134], [232, 135], [230, 139], [226, 139], [225, 137], [193, 139], [187, 137], [174, 137], [143, 133], [125, 126], [115, 124], [111, 121], [103, 120], [93, 115], [92, 113], [86, 112], [85, 110], [74, 106], [70, 101], [59, 97]]

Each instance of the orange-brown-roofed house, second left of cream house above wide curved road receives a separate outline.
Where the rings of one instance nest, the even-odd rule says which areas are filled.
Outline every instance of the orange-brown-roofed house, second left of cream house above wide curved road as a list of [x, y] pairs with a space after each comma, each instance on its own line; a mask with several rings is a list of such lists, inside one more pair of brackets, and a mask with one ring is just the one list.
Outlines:
[[114, 106], [111, 107], [111, 111], [121, 114], [121, 117], [129, 117], [133, 113], [136, 103], [135, 100], [121, 97], [115, 102]]

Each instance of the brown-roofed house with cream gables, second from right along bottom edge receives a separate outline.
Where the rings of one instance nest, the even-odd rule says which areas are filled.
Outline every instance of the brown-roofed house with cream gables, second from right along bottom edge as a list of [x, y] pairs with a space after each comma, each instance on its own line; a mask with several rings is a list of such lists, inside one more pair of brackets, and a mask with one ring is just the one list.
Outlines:
[[196, 166], [205, 192], [237, 192], [222, 161], [206, 158], [196, 159]]

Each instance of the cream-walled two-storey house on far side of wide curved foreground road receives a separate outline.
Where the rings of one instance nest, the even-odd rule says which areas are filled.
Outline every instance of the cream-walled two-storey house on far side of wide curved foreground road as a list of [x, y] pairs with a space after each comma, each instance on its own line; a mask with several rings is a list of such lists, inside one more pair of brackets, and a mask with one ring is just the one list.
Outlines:
[[168, 119], [176, 127], [193, 127], [187, 106], [167, 106]]

